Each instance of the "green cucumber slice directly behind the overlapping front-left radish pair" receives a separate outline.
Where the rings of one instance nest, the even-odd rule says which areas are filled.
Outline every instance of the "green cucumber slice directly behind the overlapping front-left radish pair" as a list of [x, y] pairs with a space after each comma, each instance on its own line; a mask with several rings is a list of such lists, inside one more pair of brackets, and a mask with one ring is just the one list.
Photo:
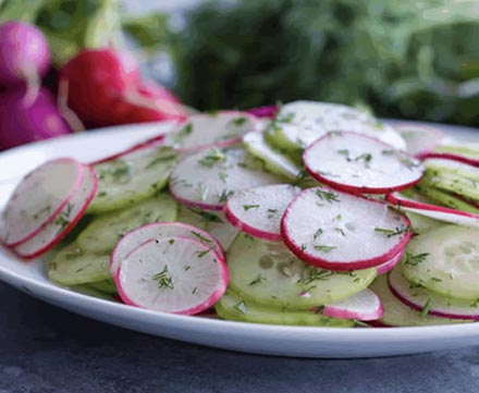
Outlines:
[[176, 201], [170, 195], [161, 193], [125, 210], [97, 217], [78, 235], [77, 243], [86, 251], [106, 253], [112, 250], [118, 241], [135, 228], [174, 220]]

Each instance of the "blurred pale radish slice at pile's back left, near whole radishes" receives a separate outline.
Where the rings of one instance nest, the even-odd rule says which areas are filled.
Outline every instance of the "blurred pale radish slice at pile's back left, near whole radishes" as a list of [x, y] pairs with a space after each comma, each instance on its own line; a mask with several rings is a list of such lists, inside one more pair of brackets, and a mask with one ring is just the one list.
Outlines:
[[246, 112], [194, 114], [179, 124], [164, 138], [164, 144], [184, 152], [220, 148], [241, 142], [246, 133], [258, 131], [259, 124], [258, 119]]

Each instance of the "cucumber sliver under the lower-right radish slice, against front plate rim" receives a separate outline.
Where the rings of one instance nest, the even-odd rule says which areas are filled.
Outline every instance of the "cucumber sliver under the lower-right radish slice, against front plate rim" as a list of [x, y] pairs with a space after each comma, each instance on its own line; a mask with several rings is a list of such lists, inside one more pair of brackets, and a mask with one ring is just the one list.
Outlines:
[[378, 277], [369, 286], [381, 299], [384, 309], [383, 317], [379, 322], [386, 327], [421, 327], [429, 324], [451, 324], [466, 322], [421, 314], [403, 304], [391, 292], [386, 275]]

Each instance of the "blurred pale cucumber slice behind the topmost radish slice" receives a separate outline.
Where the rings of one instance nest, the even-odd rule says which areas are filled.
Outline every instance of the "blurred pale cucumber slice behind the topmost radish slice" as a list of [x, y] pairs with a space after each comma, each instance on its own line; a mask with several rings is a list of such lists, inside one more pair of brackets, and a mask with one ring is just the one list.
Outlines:
[[406, 144], [397, 131], [368, 112], [351, 107], [312, 101], [282, 106], [269, 128], [268, 140], [287, 150], [304, 149], [331, 131], [351, 131], [378, 138], [398, 149]]

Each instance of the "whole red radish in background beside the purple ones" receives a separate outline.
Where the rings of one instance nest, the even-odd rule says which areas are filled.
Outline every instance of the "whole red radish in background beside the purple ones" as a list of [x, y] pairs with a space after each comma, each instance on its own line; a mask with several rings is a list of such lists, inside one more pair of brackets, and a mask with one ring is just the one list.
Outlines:
[[60, 72], [69, 85], [67, 105], [97, 125], [183, 120], [185, 111], [167, 89], [144, 84], [132, 58], [112, 49], [79, 52]]

